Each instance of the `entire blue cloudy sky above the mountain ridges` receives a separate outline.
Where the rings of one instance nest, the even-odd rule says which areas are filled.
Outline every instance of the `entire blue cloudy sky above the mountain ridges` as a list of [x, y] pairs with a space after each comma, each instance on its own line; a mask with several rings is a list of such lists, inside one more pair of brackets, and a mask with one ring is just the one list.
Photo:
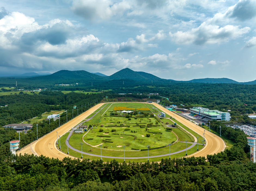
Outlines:
[[2, 0], [0, 76], [130, 68], [253, 81], [256, 0]]

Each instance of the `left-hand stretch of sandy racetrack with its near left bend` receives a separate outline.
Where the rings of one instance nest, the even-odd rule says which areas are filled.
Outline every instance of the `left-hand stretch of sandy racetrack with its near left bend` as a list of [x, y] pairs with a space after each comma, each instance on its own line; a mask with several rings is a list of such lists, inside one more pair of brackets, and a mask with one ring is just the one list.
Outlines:
[[[37, 155], [44, 155], [47, 157], [53, 157], [53, 158], [59, 158], [63, 159], [65, 157], [68, 157], [69, 155], [59, 151], [55, 143], [57, 141], [57, 133], [58, 136], [64, 135], [66, 132], [68, 132], [72, 127], [75, 127], [78, 123], [80, 123], [82, 120], [84, 120], [86, 117], [88, 117], [91, 113], [95, 112], [99, 107], [101, 107], [103, 103], [97, 104], [96, 106], [92, 107], [91, 109], [87, 110], [86, 112], [80, 114], [79, 116], [75, 117], [74, 119], [70, 120], [69, 122], [65, 123], [64, 125], [60, 126], [59, 128], [55, 129], [53, 132], [49, 133], [48, 135], [38, 139], [38, 141], [32, 143], [32, 150], [31, 151], [31, 144], [26, 147], [25, 149], [22, 149], [21, 151], [17, 152], [17, 154], [21, 153], [27, 153], [27, 154], [37, 154]], [[70, 157], [70, 156], [69, 156]]]

